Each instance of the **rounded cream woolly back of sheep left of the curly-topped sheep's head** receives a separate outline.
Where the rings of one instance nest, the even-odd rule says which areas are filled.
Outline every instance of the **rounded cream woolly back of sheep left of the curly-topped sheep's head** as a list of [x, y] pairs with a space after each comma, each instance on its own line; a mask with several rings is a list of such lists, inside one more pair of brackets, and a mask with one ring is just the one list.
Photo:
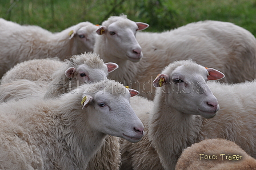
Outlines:
[[61, 67], [63, 61], [58, 58], [31, 59], [16, 64], [2, 76], [1, 84], [26, 79], [36, 82], [42, 79], [50, 83], [51, 75]]

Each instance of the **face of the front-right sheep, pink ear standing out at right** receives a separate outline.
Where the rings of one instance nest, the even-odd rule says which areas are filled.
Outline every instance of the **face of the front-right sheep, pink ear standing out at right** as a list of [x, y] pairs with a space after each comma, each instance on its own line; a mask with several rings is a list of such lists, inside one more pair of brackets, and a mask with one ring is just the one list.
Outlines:
[[154, 84], [157, 86], [162, 78], [162, 83], [166, 87], [162, 90], [168, 95], [167, 103], [175, 110], [184, 114], [213, 118], [219, 110], [219, 104], [206, 82], [223, 76], [213, 68], [207, 70], [191, 63], [178, 66], [171, 74], [159, 75]]

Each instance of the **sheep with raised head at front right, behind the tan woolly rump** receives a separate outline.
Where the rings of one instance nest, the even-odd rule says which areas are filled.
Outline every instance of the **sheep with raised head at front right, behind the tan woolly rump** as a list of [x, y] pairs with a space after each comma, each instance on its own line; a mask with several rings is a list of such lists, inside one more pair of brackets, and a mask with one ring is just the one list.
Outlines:
[[223, 76], [192, 60], [171, 63], [157, 76], [154, 109], [146, 118], [138, 115], [145, 136], [137, 144], [122, 145], [134, 169], [174, 169], [183, 149], [214, 138], [234, 141], [256, 157], [256, 81], [206, 84]]

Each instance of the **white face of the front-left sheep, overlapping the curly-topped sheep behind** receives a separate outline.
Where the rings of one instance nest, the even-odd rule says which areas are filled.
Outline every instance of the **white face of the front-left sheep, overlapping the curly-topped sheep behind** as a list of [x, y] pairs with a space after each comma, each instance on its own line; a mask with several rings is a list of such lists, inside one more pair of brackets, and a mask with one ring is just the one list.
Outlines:
[[138, 92], [130, 91], [132, 92], [129, 93], [123, 87], [122, 93], [104, 89], [95, 94], [85, 94], [83, 108], [91, 113], [88, 115], [90, 122], [93, 122], [90, 126], [99, 132], [122, 137], [130, 142], [141, 140], [144, 127], [129, 103], [130, 94]]

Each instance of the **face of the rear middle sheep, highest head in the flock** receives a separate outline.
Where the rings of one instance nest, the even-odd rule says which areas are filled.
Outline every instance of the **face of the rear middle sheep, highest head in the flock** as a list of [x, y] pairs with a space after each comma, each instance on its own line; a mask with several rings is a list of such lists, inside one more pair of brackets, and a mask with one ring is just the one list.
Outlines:
[[96, 32], [105, 36], [105, 48], [111, 51], [112, 56], [138, 62], [143, 54], [135, 34], [148, 26], [146, 23], [120, 19], [109, 26], [101, 26]]

